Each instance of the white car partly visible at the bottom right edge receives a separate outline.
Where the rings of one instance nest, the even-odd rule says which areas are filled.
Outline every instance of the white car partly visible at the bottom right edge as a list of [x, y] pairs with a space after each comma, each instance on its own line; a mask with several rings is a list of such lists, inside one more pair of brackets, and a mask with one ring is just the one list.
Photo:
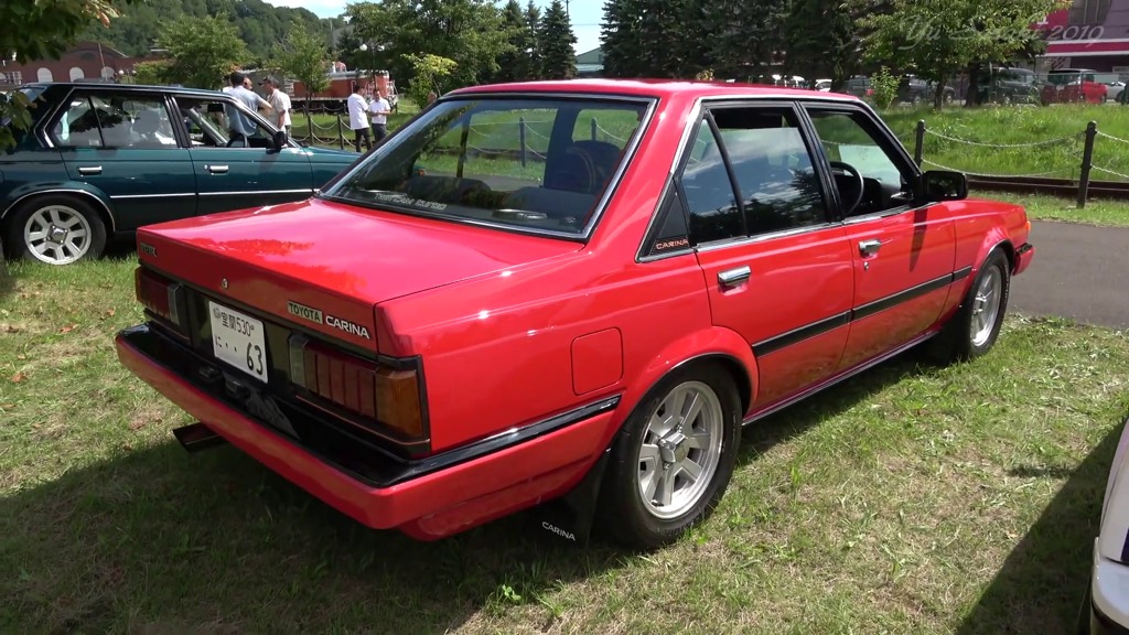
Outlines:
[[1129, 633], [1129, 418], [1113, 454], [1078, 633]]

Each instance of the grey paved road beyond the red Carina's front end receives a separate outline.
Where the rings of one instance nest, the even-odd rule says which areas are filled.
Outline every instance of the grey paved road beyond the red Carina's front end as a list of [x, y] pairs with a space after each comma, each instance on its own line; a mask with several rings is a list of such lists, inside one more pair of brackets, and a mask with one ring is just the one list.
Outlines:
[[1031, 223], [1035, 259], [1012, 285], [1008, 310], [1129, 329], [1129, 228]]

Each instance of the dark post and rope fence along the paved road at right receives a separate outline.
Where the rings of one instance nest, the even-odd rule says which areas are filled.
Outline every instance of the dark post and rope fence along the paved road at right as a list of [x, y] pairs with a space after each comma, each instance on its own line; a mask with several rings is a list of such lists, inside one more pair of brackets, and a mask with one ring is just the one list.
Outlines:
[[[1044, 172], [1034, 172], [1029, 174], [991, 174], [982, 172], [972, 172], [970, 169], [960, 169], [955, 167], [949, 167], [947, 165], [939, 164], [935, 160], [925, 158], [925, 143], [926, 137], [936, 137], [948, 143], [957, 143], [964, 146], [972, 146], [978, 148], [991, 148], [991, 149], [1019, 149], [1019, 148], [1045, 148], [1056, 145], [1074, 145], [1077, 147], [1080, 142], [1080, 156], [1077, 167], [1060, 167], [1057, 169], [1048, 169]], [[962, 172], [969, 176], [971, 181], [984, 180], [980, 183], [973, 183], [978, 186], [991, 188], [991, 186], [1023, 186], [1023, 185], [1048, 185], [1054, 186], [1061, 190], [1074, 190], [1077, 199], [1077, 207], [1086, 207], [1086, 200], [1089, 197], [1091, 185], [1095, 188], [1101, 186], [1105, 192], [1113, 192], [1114, 190], [1120, 190], [1120, 185], [1124, 184], [1126, 188], [1123, 193], [1129, 195], [1129, 174], [1123, 174], [1117, 172], [1109, 167], [1094, 164], [1094, 145], [1096, 139], [1101, 138], [1103, 143], [1124, 143], [1127, 150], [1129, 150], [1129, 139], [1122, 139], [1120, 137], [1114, 137], [1097, 130], [1097, 122], [1091, 121], [1086, 129], [1077, 132], [1075, 134], [1066, 134], [1062, 137], [1056, 137], [1053, 139], [1042, 139], [1039, 141], [1029, 141], [1024, 143], [991, 143], [978, 139], [962, 139], [960, 137], [954, 137], [952, 134], [946, 134], [936, 130], [930, 130], [926, 127], [925, 120], [919, 120], [917, 123], [917, 130], [913, 139], [913, 160], [919, 166], [933, 166], [938, 169], [945, 169], [949, 172]], [[1077, 151], [1077, 150], [1075, 150]], [[1105, 181], [1097, 181], [1091, 179], [1091, 175], [1099, 173], [1105, 175]], [[1057, 179], [1049, 179], [1054, 175], [1062, 175]], [[1117, 181], [1123, 182], [1118, 183], [1117, 181], [1111, 181], [1109, 177], [1112, 176]], [[1008, 181], [1015, 180], [1015, 181]], [[1031, 181], [1024, 181], [1031, 180]], [[1034, 180], [1041, 180], [1035, 182]], [[1034, 188], [1033, 188], [1034, 189]], [[1120, 193], [1120, 192], [1119, 192]]]

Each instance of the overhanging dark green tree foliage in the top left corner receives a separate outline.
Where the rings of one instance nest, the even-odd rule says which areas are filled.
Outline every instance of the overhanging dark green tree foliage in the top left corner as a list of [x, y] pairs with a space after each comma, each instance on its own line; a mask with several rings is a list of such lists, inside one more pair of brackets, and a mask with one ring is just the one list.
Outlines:
[[[59, 59], [91, 24], [103, 27], [119, 17], [120, 9], [132, 0], [5, 0], [0, 2], [0, 55], [27, 63]], [[32, 124], [32, 104], [19, 90], [0, 98], [0, 149], [16, 145], [16, 134]]]

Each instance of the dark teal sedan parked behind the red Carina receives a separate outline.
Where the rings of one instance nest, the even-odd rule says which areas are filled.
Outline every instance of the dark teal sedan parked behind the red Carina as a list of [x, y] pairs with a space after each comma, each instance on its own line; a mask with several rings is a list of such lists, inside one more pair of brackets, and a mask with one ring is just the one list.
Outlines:
[[[357, 160], [303, 147], [226, 93], [94, 82], [19, 88], [33, 125], [0, 154], [0, 236], [11, 258], [70, 264], [138, 227], [309, 198]], [[257, 127], [231, 143], [226, 116]]]

